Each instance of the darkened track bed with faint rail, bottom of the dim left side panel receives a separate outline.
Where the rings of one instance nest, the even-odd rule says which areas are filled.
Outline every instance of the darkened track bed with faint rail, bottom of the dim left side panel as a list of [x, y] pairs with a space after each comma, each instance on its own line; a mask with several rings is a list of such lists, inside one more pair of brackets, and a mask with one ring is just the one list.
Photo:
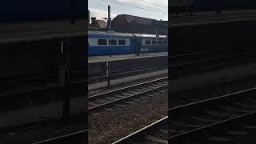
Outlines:
[[[70, 118], [52, 118], [40, 122], [30, 122], [21, 126], [0, 129], [2, 143], [86, 143], [88, 130], [85, 114]], [[24, 139], [25, 137], [25, 139]]]

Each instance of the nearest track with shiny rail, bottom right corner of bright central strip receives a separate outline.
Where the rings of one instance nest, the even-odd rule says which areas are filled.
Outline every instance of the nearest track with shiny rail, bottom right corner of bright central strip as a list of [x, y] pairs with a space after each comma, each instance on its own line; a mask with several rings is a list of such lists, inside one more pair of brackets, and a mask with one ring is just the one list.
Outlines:
[[121, 144], [121, 143], [168, 143], [167, 142], [167, 121], [168, 116], [154, 122], [148, 126], [143, 127], [140, 130], [135, 131], [133, 134], [130, 134], [124, 138], [119, 139], [112, 144]]

